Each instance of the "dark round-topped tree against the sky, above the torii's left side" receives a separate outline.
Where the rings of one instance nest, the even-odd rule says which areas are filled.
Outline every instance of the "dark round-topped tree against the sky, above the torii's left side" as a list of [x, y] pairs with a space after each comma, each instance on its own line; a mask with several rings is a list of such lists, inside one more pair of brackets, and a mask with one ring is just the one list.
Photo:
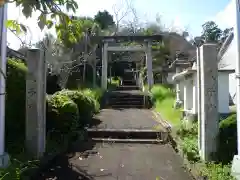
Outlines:
[[101, 29], [108, 29], [109, 26], [113, 26], [115, 24], [113, 16], [106, 10], [98, 11], [98, 13], [94, 16], [94, 21], [100, 25]]

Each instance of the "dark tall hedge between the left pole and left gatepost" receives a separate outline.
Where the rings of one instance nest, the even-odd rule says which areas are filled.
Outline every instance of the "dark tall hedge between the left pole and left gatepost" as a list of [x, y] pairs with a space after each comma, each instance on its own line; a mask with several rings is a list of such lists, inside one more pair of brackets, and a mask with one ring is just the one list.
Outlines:
[[[6, 79], [7, 142], [25, 136], [25, 97], [27, 67], [17, 59], [8, 59]], [[10, 144], [10, 143], [9, 143]]]

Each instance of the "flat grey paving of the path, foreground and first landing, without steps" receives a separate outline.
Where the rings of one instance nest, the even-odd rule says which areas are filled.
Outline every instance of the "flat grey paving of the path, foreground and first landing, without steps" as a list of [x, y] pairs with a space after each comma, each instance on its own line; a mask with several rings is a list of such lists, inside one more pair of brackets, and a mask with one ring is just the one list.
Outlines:
[[[93, 129], [145, 131], [159, 125], [148, 109], [103, 109], [94, 119]], [[79, 142], [71, 152], [56, 157], [34, 180], [47, 179], [193, 180], [169, 144], [96, 142], [93, 139]]]

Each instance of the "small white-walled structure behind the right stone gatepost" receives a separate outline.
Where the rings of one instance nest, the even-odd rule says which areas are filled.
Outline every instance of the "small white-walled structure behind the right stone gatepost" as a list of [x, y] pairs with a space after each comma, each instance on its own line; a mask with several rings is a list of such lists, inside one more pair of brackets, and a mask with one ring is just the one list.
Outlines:
[[[229, 109], [229, 74], [234, 73], [234, 69], [219, 68], [218, 70], [218, 111], [222, 116], [230, 113]], [[176, 84], [181, 84], [180, 99], [183, 102], [183, 113], [190, 119], [196, 119], [198, 113], [198, 88], [197, 69], [195, 64], [192, 68], [175, 74], [172, 77]]]

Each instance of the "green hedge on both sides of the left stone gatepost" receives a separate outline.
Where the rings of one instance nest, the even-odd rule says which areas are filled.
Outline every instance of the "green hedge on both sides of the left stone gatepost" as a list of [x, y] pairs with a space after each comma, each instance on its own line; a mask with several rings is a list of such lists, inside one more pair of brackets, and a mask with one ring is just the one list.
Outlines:
[[[16, 59], [7, 63], [6, 81], [6, 143], [11, 144], [25, 137], [26, 65]], [[71, 131], [85, 126], [99, 111], [101, 90], [59, 91], [47, 96], [47, 132]], [[22, 141], [21, 141], [22, 142]]]

